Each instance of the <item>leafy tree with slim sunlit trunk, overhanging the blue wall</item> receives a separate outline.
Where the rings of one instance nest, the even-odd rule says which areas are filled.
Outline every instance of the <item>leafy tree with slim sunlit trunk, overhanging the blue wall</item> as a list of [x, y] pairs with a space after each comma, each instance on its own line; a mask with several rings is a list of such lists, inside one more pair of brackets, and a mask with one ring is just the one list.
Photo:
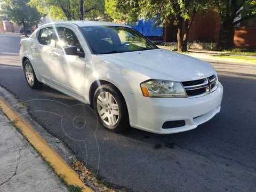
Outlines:
[[197, 11], [206, 0], [106, 0], [105, 9], [116, 20], [130, 22], [140, 18], [154, 19], [156, 26], [174, 21], [178, 26], [178, 51], [187, 51], [188, 34]]

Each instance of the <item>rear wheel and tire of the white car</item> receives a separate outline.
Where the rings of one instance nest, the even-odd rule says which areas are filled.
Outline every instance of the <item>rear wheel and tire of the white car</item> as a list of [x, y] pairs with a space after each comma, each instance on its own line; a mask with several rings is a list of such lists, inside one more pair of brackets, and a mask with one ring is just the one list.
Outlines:
[[32, 89], [40, 89], [43, 86], [43, 83], [39, 82], [38, 79], [36, 78], [36, 74], [34, 71], [34, 68], [31, 65], [31, 62], [27, 59], [24, 62], [24, 75], [26, 78], [26, 81], [28, 83], [28, 85], [32, 88]]

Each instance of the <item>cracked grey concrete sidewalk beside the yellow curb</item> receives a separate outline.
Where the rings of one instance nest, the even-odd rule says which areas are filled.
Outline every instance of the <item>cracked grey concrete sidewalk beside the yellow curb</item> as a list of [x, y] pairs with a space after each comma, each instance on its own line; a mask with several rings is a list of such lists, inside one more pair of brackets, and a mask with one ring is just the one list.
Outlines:
[[68, 191], [0, 110], [0, 191]]

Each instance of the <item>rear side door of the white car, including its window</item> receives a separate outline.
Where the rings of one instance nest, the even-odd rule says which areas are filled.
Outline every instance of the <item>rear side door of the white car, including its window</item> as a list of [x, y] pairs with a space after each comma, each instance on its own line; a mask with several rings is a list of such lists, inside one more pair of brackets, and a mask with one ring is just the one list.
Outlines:
[[51, 81], [49, 55], [54, 46], [53, 34], [53, 27], [45, 27], [37, 32], [35, 41], [30, 45], [36, 76], [43, 83]]

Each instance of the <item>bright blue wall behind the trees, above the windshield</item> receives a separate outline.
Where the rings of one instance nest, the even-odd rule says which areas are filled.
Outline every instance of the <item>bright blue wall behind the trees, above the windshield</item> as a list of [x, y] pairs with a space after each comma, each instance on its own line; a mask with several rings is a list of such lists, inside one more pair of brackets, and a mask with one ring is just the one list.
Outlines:
[[139, 20], [137, 25], [127, 25], [131, 26], [133, 29], [138, 30], [141, 34], [145, 36], [162, 36], [163, 35], [163, 28], [162, 27], [153, 27], [154, 21], [145, 21], [144, 19]]

